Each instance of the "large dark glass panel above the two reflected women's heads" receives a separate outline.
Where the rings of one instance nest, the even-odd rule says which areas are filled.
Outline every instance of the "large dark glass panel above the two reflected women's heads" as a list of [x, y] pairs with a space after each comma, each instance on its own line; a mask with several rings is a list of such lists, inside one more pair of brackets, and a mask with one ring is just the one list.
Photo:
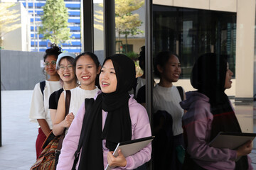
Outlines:
[[188, 79], [197, 57], [207, 52], [228, 55], [235, 74], [236, 13], [155, 5], [153, 31], [154, 56], [162, 50], [175, 52], [180, 79]]

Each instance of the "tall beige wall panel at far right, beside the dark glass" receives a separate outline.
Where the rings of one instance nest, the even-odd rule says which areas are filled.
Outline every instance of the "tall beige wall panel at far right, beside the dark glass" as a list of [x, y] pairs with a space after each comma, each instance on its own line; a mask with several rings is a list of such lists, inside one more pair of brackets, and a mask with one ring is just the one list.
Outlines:
[[236, 41], [236, 98], [253, 97], [255, 0], [238, 0]]

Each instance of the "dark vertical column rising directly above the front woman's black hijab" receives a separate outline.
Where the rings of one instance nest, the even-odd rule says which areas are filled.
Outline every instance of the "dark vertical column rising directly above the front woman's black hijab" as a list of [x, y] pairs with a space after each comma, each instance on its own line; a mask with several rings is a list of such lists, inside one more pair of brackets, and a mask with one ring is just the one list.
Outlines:
[[104, 55], [115, 54], [115, 13], [114, 0], [104, 0]]

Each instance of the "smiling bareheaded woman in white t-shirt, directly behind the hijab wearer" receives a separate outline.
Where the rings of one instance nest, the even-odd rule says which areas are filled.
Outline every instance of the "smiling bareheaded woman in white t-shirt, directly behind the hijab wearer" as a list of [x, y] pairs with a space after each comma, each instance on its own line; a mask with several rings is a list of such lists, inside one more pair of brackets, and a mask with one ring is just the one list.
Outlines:
[[69, 113], [65, 117], [65, 91], [60, 95], [57, 113], [53, 122], [54, 135], [61, 135], [65, 128], [69, 128], [78, 109], [84, 103], [85, 98], [93, 98], [99, 90], [95, 86], [95, 80], [100, 74], [100, 62], [92, 52], [84, 52], [75, 57], [75, 74], [80, 81], [80, 86], [71, 89]]

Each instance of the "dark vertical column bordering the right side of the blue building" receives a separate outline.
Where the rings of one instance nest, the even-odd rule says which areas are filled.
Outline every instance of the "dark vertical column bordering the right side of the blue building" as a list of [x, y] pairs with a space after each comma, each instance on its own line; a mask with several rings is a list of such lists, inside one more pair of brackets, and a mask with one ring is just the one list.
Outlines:
[[93, 52], [93, 0], [82, 0], [83, 50]]

